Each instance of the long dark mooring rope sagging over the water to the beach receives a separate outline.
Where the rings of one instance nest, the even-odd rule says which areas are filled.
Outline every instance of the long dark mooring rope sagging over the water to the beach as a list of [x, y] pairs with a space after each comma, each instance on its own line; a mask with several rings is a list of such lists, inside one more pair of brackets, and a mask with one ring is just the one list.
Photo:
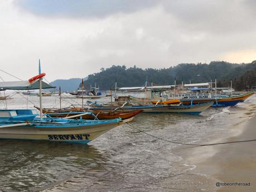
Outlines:
[[160, 137], [156, 137], [156, 136], [154, 136], [154, 135], [148, 134], [147, 132], [138, 129], [137, 127], [135, 127], [135, 126], [129, 124], [128, 122], [127, 122], [126, 124], [128, 124], [128, 125], [131, 126], [131, 127], [133, 127], [134, 129], [137, 129], [138, 131], [143, 132], [144, 134], [147, 134], [147, 135], [149, 135], [149, 136], [151, 136], [151, 137], [154, 137], [154, 138], [156, 138], [156, 139], [159, 139], [159, 140], [162, 140], [162, 141], [171, 142], [171, 143], [173, 143], [173, 144], [180, 144], [180, 145], [210, 146], [210, 145], [232, 144], [232, 143], [236, 143], [236, 142], [256, 141], [256, 139], [252, 139], [252, 140], [243, 140], [243, 141], [217, 142], [217, 143], [214, 143], [214, 144], [187, 144], [187, 143], [184, 143], [184, 142], [176, 142], [176, 141], [170, 141], [170, 140], [162, 139], [162, 138], [160, 138]]

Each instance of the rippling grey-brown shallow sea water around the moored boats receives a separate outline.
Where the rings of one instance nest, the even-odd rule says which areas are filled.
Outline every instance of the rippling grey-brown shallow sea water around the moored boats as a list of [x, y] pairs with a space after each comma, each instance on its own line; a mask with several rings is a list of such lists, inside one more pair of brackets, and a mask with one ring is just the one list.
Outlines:
[[[38, 97], [28, 97], [33, 104], [13, 97], [7, 100], [9, 109], [38, 104]], [[131, 125], [170, 141], [209, 143], [238, 134], [235, 126], [248, 119], [238, 117], [255, 111], [255, 99], [252, 96], [237, 107], [210, 108], [199, 116], [140, 114]], [[81, 103], [66, 101], [62, 106]], [[58, 102], [44, 97], [45, 107]], [[0, 144], [0, 191], [192, 191], [191, 185], [203, 189], [189, 178], [195, 166], [175, 153], [187, 146], [156, 139], [126, 124], [88, 145], [15, 140]]]

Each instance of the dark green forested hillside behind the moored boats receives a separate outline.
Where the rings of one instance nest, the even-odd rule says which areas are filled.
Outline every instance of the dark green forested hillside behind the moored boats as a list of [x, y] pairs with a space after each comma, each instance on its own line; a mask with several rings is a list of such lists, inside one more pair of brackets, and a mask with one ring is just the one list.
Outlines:
[[110, 68], [102, 68], [100, 72], [88, 76], [85, 87], [95, 83], [101, 90], [109, 90], [114, 87], [117, 78], [118, 87], [143, 86], [146, 79], [148, 85], [173, 85], [177, 83], [199, 83], [218, 80], [218, 86], [228, 86], [230, 80], [236, 90], [249, 89], [256, 85], [256, 61], [252, 63], [228, 63], [224, 61], [212, 61], [205, 63], [182, 63], [170, 68], [138, 68], [136, 66], [127, 68], [113, 65]]

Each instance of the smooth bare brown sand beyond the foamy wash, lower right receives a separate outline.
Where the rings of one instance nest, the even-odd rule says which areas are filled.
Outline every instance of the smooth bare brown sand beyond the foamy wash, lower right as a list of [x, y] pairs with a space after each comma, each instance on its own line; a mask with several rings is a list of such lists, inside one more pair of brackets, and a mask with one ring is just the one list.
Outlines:
[[[230, 140], [256, 139], [256, 117], [250, 119], [243, 134]], [[214, 165], [214, 178], [225, 183], [250, 183], [250, 186], [224, 186], [218, 191], [256, 191], [256, 141], [228, 144], [205, 165]]]

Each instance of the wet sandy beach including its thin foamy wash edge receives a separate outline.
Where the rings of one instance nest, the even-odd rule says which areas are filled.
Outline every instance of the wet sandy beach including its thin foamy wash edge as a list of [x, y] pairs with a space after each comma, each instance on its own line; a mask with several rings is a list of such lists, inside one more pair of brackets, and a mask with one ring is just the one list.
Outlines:
[[[230, 117], [245, 118], [241, 118], [239, 124], [229, 124], [229, 128], [237, 129], [241, 134], [229, 137], [220, 133], [220, 139], [212, 142], [256, 139], [255, 108], [256, 105], [250, 106], [250, 110], [243, 112], [239, 107], [234, 109], [237, 115]], [[195, 184], [191, 186], [191, 191], [256, 191], [256, 141], [202, 147], [184, 146], [175, 152], [187, 164], [196, 166], [196, 169], [187, 174], [187, 178]], [[250, 184], [218, 187], [217, 182]]]

